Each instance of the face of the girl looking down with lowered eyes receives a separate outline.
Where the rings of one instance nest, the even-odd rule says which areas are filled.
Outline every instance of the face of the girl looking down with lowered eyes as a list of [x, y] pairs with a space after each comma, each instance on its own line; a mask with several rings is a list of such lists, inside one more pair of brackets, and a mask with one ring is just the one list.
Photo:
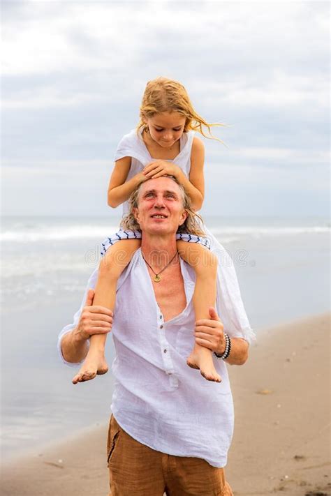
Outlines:
[[146, 122], [152, 140], [162, 148], [171, 149], [183, 134], [186, 118], [178, 112], [161, 112], [149, 117]]

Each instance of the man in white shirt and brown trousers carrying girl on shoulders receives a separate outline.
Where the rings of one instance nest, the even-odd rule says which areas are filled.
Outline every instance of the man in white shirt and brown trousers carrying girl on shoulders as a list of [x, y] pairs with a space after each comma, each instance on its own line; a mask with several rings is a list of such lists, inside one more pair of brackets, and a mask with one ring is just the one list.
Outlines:
[[[221, 383], [206, 381], [186, 365], [195, 338], [220, 356], [227, 353], [229, 340], [214, 308], [209, 320], [194, 322], [191, 266], [175, 257], [162, 271], [162, 284], [154, 280], [154, 271], [165, 265], [164, 255], [170, 261], [177, 253], [176, 232], [188, 216], [184, 195], [170, 176], [139, 186], [131, 214], [140, 225], [142, 243], [119, 279], [113, 325], [110, 310], [92, 305], [90, 290], [75, 324], [59, 336], [64, 361], [78, 363], [87, 354], [89, 336], [112, 327], [112, 496], [233, 494], [223, 469], [233, 435], [225, 363], [214, 356]], [[247, 340], [232, 337], [226, 361], [242, 365], [248, 347]]]

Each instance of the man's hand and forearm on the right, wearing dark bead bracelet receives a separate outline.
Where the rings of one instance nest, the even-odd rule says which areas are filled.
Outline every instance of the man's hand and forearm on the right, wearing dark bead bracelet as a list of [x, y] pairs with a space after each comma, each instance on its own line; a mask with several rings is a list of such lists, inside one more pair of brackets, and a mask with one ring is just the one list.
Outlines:
[[[198, 320], [196, 322], [196, 343], [205, 346], [218, 355], [223, 355], [226, 350], [226, 338], [224, 336], [223, 324], [214, 308], [209, 308], [210, 319]], [[230, 365], [244, 365], [248, 359], [249, 343], [244, 338], [230, 338], [231, 350], [226, 361]]]

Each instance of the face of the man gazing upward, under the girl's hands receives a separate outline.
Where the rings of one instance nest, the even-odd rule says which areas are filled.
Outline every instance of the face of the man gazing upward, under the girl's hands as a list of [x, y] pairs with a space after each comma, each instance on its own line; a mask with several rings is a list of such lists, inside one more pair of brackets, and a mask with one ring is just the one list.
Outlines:
[[138, 209], [134, 215], [142, 232], [175, 234], [187, 216], [178, 184], [168, 177], [145, 181], [140, 188]]

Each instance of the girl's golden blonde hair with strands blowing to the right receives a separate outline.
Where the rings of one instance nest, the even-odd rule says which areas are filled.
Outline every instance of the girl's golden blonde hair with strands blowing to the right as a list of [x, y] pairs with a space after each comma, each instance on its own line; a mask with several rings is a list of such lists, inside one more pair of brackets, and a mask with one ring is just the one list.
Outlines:
[[[147, 82], [145, 92], [140, 105], [140, 121], [137, 126], [137, 133], [142, 128], [147, 129], [145, 119], [154, 117], [161, 112], [178, 112], [186, 117], [184, 133], [189, 130], [197, 130], [211, 140], [223, 141], [214, 137], [210, 131], [212, 126], [226, 126], [223, 123], [208, 123], [193, 109], [193, 105], [184, 86], [167, 77], [156, 77], [155, 80]], [[203, 132], [203, 126], [208, 128], [209, 136]], [[224, 143], [223, 143], [224, 144]]]

